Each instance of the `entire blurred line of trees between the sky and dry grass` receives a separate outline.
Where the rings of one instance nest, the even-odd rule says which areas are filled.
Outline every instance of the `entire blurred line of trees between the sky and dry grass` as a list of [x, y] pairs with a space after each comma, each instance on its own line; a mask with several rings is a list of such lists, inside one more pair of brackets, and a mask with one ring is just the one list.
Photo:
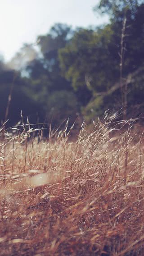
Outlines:
[[30, 123], [90, 122], [121, 109], [121, 89], [127, 117], [143, 113], [144, 1], [100, 0], [94, 11], [108, 13], [109, 23], [75, 30], [58, 23], [9, 64], [0, 59], [1, 123], [14, 125], [21, 110]]

